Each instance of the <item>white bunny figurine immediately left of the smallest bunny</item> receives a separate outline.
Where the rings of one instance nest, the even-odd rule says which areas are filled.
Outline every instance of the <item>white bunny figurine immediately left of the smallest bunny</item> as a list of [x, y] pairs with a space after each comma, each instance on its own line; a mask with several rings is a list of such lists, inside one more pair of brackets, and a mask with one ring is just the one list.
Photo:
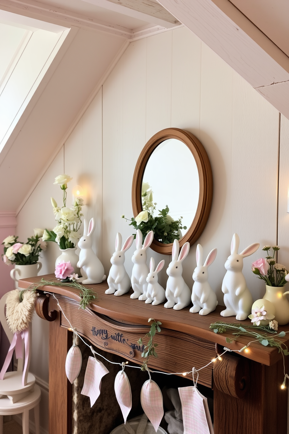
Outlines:
[[131, 258], [134, 263], [131, 274], [131, 287], [133, 288], [133, 294], [131, 294], [130, 298], [138, 298], [142, 301], [146, 300], [146, 277], [149, 274], [149, 267], [146, 265], [146, 250], [152, 242], [152, 230], [146, 235], [144, 242], [142, 231], [140, 229], [136, 231], [136, 250]]

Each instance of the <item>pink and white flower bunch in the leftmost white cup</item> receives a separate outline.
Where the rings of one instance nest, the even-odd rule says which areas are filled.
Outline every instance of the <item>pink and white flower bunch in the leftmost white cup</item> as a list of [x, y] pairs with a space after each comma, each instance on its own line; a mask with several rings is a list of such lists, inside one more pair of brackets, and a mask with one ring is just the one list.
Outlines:
[[9, 235], [3, 240], [4, 254], [2, 260], [6, 265], [33, 265], [36, 264], [40, 252], [46, 250], [46, 243], [41, 239], [44, 229], [34, 229], [34, 237], [30, 237], [27, 243], [20, 243], [18, 237]]

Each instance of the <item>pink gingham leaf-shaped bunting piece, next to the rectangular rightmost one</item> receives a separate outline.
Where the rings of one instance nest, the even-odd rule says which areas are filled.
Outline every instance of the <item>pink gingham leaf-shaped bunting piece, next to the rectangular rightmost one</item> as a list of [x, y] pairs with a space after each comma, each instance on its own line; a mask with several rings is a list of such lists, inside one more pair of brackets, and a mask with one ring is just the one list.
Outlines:
[[155, 431], [158, 431], [164, 411], [162, 406], [162, 392], [155, 381], [147, 380], [143, 383], [140, 392], [140, 402], [143, 411], [146, 413]]

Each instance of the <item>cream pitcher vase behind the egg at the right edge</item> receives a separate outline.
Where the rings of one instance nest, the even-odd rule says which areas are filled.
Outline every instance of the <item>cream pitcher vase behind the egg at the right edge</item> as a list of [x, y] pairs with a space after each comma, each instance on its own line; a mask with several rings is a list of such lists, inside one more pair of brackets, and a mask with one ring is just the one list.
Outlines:
[[279, 325], [285, 325], [289, 322], [289, 302], [285, 291], [285, 286], [268, 286], [266, 285], [266, 293], [263, 299], [269, 300], [275, 306], [275, 318]]

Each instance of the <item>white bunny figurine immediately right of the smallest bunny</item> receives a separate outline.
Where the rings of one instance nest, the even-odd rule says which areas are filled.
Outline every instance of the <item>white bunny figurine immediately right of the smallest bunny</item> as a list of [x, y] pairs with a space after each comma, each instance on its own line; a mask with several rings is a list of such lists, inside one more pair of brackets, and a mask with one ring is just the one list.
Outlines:
[[[182, 277], [182, 261], [187, 257], [190, 243], [185, 243], [179, 254], [179, 241], [174, 240], [172, 245], [172, 262], [166, 270], [169, 279], [166, 283], [165, 307], [173, 307], [175, 310], [183, 309], [191, 301], [191, 291]], [[179, 255], [179, 257], [178, 257]], [[176, 304], [175, 304], [176, 303]]]

